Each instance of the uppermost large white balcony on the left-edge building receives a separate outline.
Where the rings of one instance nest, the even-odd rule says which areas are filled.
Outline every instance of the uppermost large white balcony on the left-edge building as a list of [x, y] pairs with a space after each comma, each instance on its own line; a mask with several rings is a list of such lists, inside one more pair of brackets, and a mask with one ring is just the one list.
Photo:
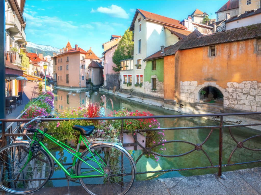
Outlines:
[[21, 33], [21, 24], [14, 11], [5, 10], [5, 29], [11, 32], [11, 36]]

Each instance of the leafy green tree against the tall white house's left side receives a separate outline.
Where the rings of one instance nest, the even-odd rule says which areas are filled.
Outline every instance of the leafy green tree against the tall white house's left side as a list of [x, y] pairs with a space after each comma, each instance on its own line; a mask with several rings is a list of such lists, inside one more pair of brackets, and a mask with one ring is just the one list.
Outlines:
[[117, 49], [114, 51], [112, 56], [112, 62], [116, 64], [116, 67], [112, 66], [112, 70], [119, 72], [121, 70], [121, 60], [132, 58], [131, 53], [134, 48], [134, 42], [132, 41], [133, 32], [128, 30], [125, 31], [121, 40], [118, 43]]

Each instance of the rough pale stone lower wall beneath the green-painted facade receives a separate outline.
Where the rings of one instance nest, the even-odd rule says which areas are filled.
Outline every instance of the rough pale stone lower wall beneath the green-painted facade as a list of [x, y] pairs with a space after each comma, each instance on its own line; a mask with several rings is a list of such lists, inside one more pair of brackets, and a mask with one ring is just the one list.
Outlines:
[[[156, 79], [156, 91], [152, 91], [152, 79]], [[144, 93], [145, 94], [150, 94], [151, 96], [154, 97], [160, 97], [160, 98], [164, 98], [164, 83], [163, 82], [159, 82], [157, 75], [151, 75], [151, 82], [146, 81], [144, 82]]]

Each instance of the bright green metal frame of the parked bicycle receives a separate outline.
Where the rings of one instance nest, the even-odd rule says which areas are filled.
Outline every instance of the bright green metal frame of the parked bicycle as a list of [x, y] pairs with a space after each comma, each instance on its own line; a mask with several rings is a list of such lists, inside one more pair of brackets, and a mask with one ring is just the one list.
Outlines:
[[[39, 133], [44, 134], [44, 132], [41, 131], [40, 129], [38, 129], [38, 131], [39, 131]], [[38, 133], [38, 132], [34, 132], [34, 134], [33, 134], [33, 140], [32, 140], [31, 145], [35, 142], [35, 140], [37, 140], [37, 139], [36, 139], [37, 133]], [[88, 146], [90, 145], [90, 143], [88, 142], [88, 140], [87, 140], [84, 136], [80, 135], [79, 141], [78, 141], [78, 145], [77, 145], [77, 148], [76, 148], [76, 150], [75, 150], [75, 149], [73, 149], [73, 148], [71, 148], [71, 147], [65, 145], [64, 143], [58, 141], [57, 139], [53, 138], [52, 136], [50, 136], [50, 135], [48, 135], [48, 134], [44, 134], [44, 135], [45, 135], [48, 139], [50, 139], [52, 142], [54, 142], [56, 145], [62, 147], [64, 150], [66, 150], [66, 151], [69, 152], [70, 154], [74, 155], [73, 165], [72, 165], [72, 167], [74, 167], [74, 169], [75, 169], [75, 165], [76, 165], [76, 163], [77, 163], [76, 160], [78, 159], [78, 160], [83, 161], [83, 162], [84, 162], [85, 164], [87, 164], [88, 166], [92, 167], [94, 170], [96, 170], [96, 171], [98, 171], [99, 173], [101, 173], [100, 175], [76, 176], [76, 174], [73, 173], [73, 170], [74, 170], [74, 169], [72, 169], [72, 170], [69, 172], [69, 171], [59, 162], [59, 160], [57, 160], [57, 159], [54, 157], [54, 155], [53, 155], [53, 154], [51, 153], [51, 151], [44, 145], [44, 143], [43, 143], [42, 141], [39, 141], [38, 143], [41, 145], [41, 147], [44, 149], [44, 151], [47, 152], [52, 159], [54, 159], [54, 161], [58, 164], [58, 166], [60, 166], [61, 169], [62, 169], [70, 178], [88, 178], [88, 177], [98, 177], [98, 176], [101, 176], [101, 177], [102, 177], [102, 176], [107, 176], [107, 174], [104, 173], [102, 167], [100, 166], [100, 165], [102, 165], [102, 164], [101, 164], [100, 162], [98, 162], [98, 161], [94, 158], [93, 153], [91, 152], [90, 148], [88, 147]], [[91, 154], [92, 157], [93, 157], [93, 159], [91, 159], [91, 158], [89, 158], [89, 157], [86, 157], [86, 158], [88, 158], [89, 160], [92, 160], [92, 161], [96, 162], [96, 163], [98, 164], [98, 166], [100, 167], [100, 170], [101, 170], [101, 171], [99, 171], [99, 170], [97, 170], [96, 168], [94, 168], [93, 166], [89, 165], [87, 162], [85, 162], [84, 160], [82, 160], [82, 159], [79, 157], [79, 156], [81, 155], [81, 153], [79, 152], [79, 147], [80, 147], [81, 141], [84, 142], [84, 144], [86, 145], [87, 149], [89, 150], [90, 154]], [[87, 143], [88, 143], [88, 145], [87, 145]], [[67, 148], [73, 150], [73, 151], [75, 152], [75, 154], [74, 154], [73, 152], [69, 151]], [[97, 154], [97, 152], [96, 152], [96, 151], [94, 151], [94, 152], [95, 152], [95, 154], [99, 157], [99, 155]], [[33, 153], [31, 152], [31, 150], [29, 150], [27, 162], [25, 163], [25, 165], [23, 166], [23, 168], [22, 168], [19, 172], [22, 172], [22, 170], [26, 167], [26, 165], [28, 164], [28, 162], [31, 160], [32, 155], [33, 155]], [[105, 164], [105, 162], [103, 161], [103, 159], [100, 158], [100, 157], [99, 157], [99, 159], [100, 159], [100, 160], [102, 161], [102, 163], [106, 166], [106, 164]], [[84, 173], [84, 174], [85, 174], [85, 173], [90, 173], [90, 172], [93, 172], [94, 170], [92, 170], [92, 171], [86, 171], [86, 172], [83, 172], [83, 173]]]

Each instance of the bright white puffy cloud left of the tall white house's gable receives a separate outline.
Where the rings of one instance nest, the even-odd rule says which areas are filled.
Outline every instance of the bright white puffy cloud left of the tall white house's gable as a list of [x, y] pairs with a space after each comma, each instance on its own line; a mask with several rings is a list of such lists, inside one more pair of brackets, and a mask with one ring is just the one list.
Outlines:
[[91, 13], [95, 13], [95, 12], [108, 14], [109, 16], [115, 18], [124, 18], [124, 19], [129, 18], [129, 15], [126, 13], [126, 11], [117, 5], [111, 5], [109, 6], [109, 8], [99, 7], [97, 8], [97, 10], [94, 9], [91, 10]]

